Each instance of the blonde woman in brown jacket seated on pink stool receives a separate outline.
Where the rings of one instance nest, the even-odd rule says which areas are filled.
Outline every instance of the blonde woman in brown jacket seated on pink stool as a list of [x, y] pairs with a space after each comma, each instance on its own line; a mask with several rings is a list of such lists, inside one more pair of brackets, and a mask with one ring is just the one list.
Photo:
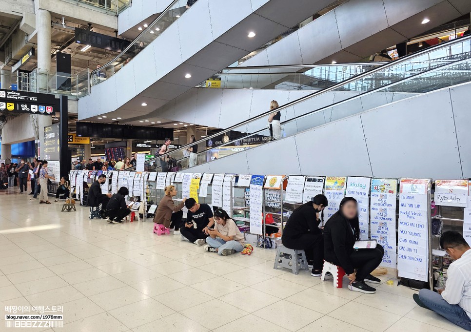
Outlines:
[[165, 196], [160, 200], [158, 204], [156, 216], [154, 217], [154, 223], [162, 224], [166, 228], [173, 228], [175, 226], [175, 233], [179, 234], [179, 228], [181, 224], [181, 218], [183, 217], [183, 211], [181, 210], [185, 206], [186, 198], [183, 198], [180, 204], [175, 205], [172, 197], [177, 196], [177, 188], [175, 186], [165, 187]]

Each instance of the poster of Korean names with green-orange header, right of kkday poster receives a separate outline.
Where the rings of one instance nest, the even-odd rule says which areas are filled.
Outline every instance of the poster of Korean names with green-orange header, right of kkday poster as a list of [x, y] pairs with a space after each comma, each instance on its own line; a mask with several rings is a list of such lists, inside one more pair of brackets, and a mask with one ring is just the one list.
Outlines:
[[372, 179], [370, 203], [371, 238], [384, 248], [381, 266], [397, 268], [396, 250], [397, 180]]

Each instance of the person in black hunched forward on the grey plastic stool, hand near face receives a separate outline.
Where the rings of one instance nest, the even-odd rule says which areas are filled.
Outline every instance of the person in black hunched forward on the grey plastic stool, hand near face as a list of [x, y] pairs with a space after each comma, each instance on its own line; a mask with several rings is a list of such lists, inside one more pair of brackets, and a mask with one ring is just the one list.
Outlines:
[[286, 222], [281, 236], [283, 246], [304, 250], [308, 264], [313, 267], [311, 275], [320, 277], [324, 264], [324, 240], [319, 228], [322, 210], [328, 205], [327, 197], [315, 195], [311, 202], [297, 207]]

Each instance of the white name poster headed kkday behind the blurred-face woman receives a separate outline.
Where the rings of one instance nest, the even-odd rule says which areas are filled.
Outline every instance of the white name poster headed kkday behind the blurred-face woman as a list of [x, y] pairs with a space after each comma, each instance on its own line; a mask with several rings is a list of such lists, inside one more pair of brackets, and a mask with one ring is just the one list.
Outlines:
[[353, 197], [358, 202], [360, 240], [368, 240], [370, 238], [370, 187], [371, 178], [356, 176], [349, 176], [347, 178], [346, 196]]

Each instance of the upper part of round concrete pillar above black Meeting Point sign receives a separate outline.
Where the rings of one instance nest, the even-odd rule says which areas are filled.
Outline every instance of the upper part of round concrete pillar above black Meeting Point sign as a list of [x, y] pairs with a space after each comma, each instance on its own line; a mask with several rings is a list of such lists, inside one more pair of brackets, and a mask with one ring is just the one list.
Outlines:
[[38, 85], [40, 91], [47, 89], [47, 76], [51, 73], [51, 13], [39, 9], [36, 12], [36, 29], [38, 30]]

